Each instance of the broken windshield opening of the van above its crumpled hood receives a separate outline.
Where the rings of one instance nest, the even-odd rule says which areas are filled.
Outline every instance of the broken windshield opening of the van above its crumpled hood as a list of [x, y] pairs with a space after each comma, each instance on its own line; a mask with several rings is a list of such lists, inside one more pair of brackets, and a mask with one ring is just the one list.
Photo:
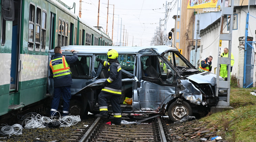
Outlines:
[[178, 51], [168, 52], [164, 55], [182, 76], [198, 73], [199, 71], [186, 60]]

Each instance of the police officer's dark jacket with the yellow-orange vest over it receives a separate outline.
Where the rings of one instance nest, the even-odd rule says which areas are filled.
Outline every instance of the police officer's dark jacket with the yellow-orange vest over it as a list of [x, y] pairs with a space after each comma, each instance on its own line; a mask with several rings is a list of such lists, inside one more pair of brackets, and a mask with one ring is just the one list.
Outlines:
[[72, 85], [69, 64], [75, 62], [77, 59], [76, 52], [73, 53], [73, 56], [54, 55], [50, 61], [50, 72], [53, 73], [54, 87]]

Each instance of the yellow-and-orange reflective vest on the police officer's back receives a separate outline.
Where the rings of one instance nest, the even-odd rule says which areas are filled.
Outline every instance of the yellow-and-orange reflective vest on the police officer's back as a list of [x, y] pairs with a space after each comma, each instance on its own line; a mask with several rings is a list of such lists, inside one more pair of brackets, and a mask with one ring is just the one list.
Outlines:
[[52, 68], [54, 78], [57, 76], [71, 74], [70, 67], [67, 64], [65, 56], [51, 60], [50, 67]]

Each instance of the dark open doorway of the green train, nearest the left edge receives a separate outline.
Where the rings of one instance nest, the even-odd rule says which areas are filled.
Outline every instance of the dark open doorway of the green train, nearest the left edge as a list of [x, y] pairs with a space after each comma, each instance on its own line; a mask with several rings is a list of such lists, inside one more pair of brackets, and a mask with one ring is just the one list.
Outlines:
[[[18, 91], [19, 71], [20, 71], [20, 12], [21, 1], [14, 0], [14, 20], [12, 22], [12, 49], [11, 49], [11, 78], [10, 91]], [[7, 25], [10, 28], [10, 25]]]

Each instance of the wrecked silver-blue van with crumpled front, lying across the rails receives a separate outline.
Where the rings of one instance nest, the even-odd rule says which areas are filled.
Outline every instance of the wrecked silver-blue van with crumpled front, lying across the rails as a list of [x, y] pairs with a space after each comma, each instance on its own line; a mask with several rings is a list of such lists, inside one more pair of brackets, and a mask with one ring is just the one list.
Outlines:
[[[115, 49], [122, 68], [122, 113], [166, 114], [178, 121], [193, 113], [205, 113], [218, 103], [215, 96], [216, 75], [200, 72], [179, 50], [169, 46], [66, 46], [62, 54], [71, 56], [76, 50], [78, 60], [70, 64], [73, 85], [71, 114], [99, 113], [100, 85], [107, 79], [107, 70], [95, 61], [107, 60], [108, 49]], [[54, 56], [50, 50], [49, 60]], [[49, 73], [48, 91], [53, 95], [53, 78]], [[124, 104], [132, 98], [132, 104]], [[111, 112], [109, 103], [108, 110]]]

